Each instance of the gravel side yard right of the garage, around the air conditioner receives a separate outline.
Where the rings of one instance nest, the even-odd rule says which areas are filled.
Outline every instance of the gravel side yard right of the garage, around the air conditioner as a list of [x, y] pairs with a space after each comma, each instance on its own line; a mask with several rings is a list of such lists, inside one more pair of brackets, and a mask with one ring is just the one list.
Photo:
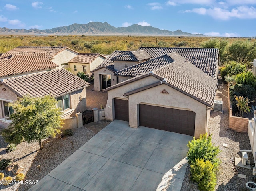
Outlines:
[[[215, 100], [223, 101], [223, 114], [211, 112], [208, 128], [212, 134], [212, 142], [219, 146], [222, 151], [219, 155], [221, 160], [220, 169], [217, 175], [216, 191], [247, 191], [246, 183], [254, 181], [252, 169], [234, 166], [234, 158], [241, 158], [239, 150], [250, 150], [250, 141], [247, 133], [238, 133], [228, 127], [228, 87], [226, 84], [219, 84]], [[223, 143], [228, 144], [224, 147]], [[254, 163], [252, 152], [248, 153], [250, 163]], [[246, 179], [239, 178], [238, 174], [246, 175]], [[181, 191], [198, 191], [196, 183], [190, 180], [190, 165], [186, 170], [186, 175], [182, 184]]]

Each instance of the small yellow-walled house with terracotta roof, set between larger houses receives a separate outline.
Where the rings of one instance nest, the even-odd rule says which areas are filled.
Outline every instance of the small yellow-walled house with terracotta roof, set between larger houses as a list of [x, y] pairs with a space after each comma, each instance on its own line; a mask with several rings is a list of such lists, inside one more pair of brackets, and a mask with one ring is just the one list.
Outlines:
[[87, 74], [96, 69], [105, 59], [106, 57], [97, 53], [80, 53], [68, 64], [73, 74], [77, 75], [78, 72]]

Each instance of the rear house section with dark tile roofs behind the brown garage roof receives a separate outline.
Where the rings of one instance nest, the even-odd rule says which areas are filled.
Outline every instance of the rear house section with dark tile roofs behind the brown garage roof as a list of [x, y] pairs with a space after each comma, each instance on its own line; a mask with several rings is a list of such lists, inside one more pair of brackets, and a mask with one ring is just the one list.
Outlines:
[[[177, 52], [187, 61], [201, 69], [212, 78], [218, 77], [219, 51], [214, 48], [171, 48], [171, 47], [140, 47], [137, 51], [114, 51], [94, 72], [94, 89], [97, 91], [106, 89], [131, 77], [141, 74], [130, 75], [124, 71], [133, 65], [144, 63], [145, 66], [151, 59]], [[143, 72], [152, 70], [161, 65], [159, 63]], [[124, 70], [124, 71], [122, 71]], [[121, 72], [122, 71], [122, 72]]]

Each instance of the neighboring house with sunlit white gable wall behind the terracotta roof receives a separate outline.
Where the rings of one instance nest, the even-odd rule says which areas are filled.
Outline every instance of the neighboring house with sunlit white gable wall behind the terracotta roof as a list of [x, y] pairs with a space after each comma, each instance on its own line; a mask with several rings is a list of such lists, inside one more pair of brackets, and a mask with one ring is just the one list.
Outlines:
[[74, 51], [68, 47], [30, 47], [18, 46], [7, 53], [50, 53], [50, 59], [53, 63], [58, 65], [57, 69], [68, 68], [68, 62], [73, 59], [79, 52]]

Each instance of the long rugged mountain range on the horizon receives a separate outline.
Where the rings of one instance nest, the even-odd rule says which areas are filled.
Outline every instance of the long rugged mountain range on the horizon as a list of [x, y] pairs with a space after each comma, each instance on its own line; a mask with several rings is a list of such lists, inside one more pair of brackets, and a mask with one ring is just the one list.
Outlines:
[[89, 22], [87, 24], [74, 23], [69, 26], [52, 29], [9, 29], [0, 28], [0, 34], [20, 35], [154, 35], [154, 36], [204, 36], [203, 34], [191, 34], [181, 30], [160, 30], [152, 26], [134, 24], [128, 27], [114, 27], [107, 22]]

